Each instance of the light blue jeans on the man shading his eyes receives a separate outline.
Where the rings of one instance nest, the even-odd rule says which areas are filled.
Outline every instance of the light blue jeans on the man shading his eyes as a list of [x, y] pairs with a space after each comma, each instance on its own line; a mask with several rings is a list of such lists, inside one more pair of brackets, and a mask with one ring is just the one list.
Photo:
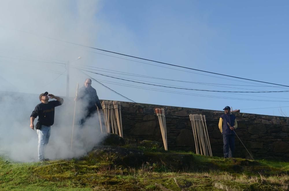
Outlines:
[[42, 125], [41, 129], [37, 130], [38, 134], [38, 160], [44, 159], [44, 149], [49, 141], [51, 126]]

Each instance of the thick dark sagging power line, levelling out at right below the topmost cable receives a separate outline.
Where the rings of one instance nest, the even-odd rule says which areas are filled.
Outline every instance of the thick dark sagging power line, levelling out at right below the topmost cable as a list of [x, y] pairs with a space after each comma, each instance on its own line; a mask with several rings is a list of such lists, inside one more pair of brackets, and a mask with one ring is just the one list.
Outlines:
[[[83, 70], [83, 69], [79, 69], [79, 70]], [[88, 71], [88, 70], [84, 70], [84, 71], [86, 71], [86, 72], [91, 72], [91, 71]], [[96, 72], [91, 72], [91, 73], [94, 73], [94, 74], [99, 74], [99, 73], [96, 73]], [[115, 79], [119, 79], [119, 80], [125, 80], [125, 79], [122, 79], [122, 78], [116, 78], [116, 77], [113, 77], [113, 76], [108, 76], [108, 75], [104, 75], [104, 74], [99, 74], [99, 75], [102, 75], [102, 76], [107, 76], [107, 77], [110, 77], [110, 78], [115, 78]], [[125, 81], [130, 81], [130, 82], [135, 82], [135, 83], [141, 83], [141, 84], [147, 84], [147, 85], [153, 85], [153, 86], [160, 86], [160, 87], [167, 87], [167, 88], [175, 88], [175, 89], [195, 90], [195, 91], [211, 91], [211, 92], [236, 92], [236, 93], [269, 93], [269, 92], [289, 92], [289, 91], [217, 91], [217, 90], [204, 90], [204, 89], [190, 89], [190, 88], [170, 87], [170, 86], [155, 85], [155, 84], [149, 84], [149, 83], [143, 83], [143, 82], [136, 82], [136, 81], [133, 81], [133, 80], [125, 80]]]

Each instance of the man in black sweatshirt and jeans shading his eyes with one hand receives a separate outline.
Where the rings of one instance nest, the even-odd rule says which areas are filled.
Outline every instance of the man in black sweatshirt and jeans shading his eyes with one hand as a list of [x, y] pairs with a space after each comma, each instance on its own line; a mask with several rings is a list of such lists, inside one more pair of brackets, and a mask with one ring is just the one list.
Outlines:
[[[49, 96], [49, 97], [48, 97]], [[54, 98], [57, 101], [48, 101], [49, 98]], [[34, 119], [38, 116], [36, 123], [36, 131], [38, 134], [38, 160], [46, 161], [44, 158], [44, 148], [47, 145], [50, 137], [50, 129], [54, 123], [54, 108], [63, 103], [63, 99], [53, 94], [41, 93], [39, 95], [40, 104], [38, 104], [30, 116], [30, 128], [34, 130]]]

